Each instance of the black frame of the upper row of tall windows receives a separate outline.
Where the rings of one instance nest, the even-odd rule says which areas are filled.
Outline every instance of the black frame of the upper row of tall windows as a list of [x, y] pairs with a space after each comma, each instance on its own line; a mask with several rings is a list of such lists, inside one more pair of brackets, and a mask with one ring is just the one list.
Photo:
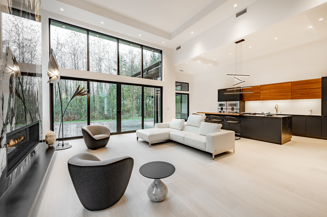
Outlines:
[[[143, 46], [146, 47], [146, 48], [149, 48], [149, 49], [153, 49], [153, 50], [156, 50], [156, 51], [160, 51], [160, 58], [161, 58], [161, 67], [160, 67], [160, 77], [161, 77], [161, 80], [160, 81], [163, 81], [163, 74], [162, 74], [162, 50], [159, 50], [157, 48], [152, 48], [152, 47], [149, 47], [147, 45], [141, 45], [137, 42], [131, 42], [129, 40], [125, 40], [125, 39], [120, 39], [120, 38], [117, 38], [117, 37], [114, 37], [114, 36], [110, 36], [110, 35], [107, 35], [107, 34], [104, 34], [104, 33], [100, 33], [100, 32], [97, 32], [97, 31], [94, 31], [94, 30], [89, 30], [89, 29], [86, 29], [86, 28], [83, 28], [83, 27], [78, 27], [76, 25], [73, 25], [73, 24], [69, 24], [69, 23], [65, 23], [65, 22], [62, 22], [62, 21], [57, 21], [55, 19], [51, 19], [49, 18], [49, 52], [51, 52], [51, 31], [50, 31], [50, 28], [51, 28], [51, 21], [55, 22], [55, 23], [59, 23], [59, 24], [62, 24], [62, 25], [67, 25], [67, 26], [71, 26], [73, 28], [77, 28], [77, 29], [80, 29], [80, 30], [85, 30], [87, 31], [87, 72], [90, 72], [90, 42], [89, 42], [89, 37], [90, 37], [90, 32], [92, 33], [95, 33], [95, 34], [99, 34], [99, 35], [103, 35], [103, 36], [106, 36], [106, 37], [110, 37], [110, 38], [115, 38], [117, 40], [117, 75], [120, 75], [120, 71], [119, 71], [119, 41], [122, 40], [124, 42], [128, 42], [128, 43], [131, 43], [131, 44], [135, 44], [135, 45], [138, 45], [141, 47], [141, 78], [143, 78]], [[49, 53], [50, 54], [50, 53]], [[105, 73], [103, 73], [105, 74]], [[155, 80], [157, 81], [157, 80]]]

